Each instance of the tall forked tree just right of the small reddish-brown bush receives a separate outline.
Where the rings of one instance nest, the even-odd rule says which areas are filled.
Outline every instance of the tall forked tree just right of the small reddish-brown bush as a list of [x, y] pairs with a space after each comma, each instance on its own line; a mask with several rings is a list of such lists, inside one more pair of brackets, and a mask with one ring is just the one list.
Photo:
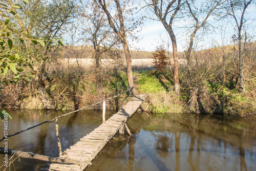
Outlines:
[[[168, 32], [170, 39], [172, 40], [173, 45], [173, 57], [174, 57], [174, 86], [175, 94], [180, 95], [180, 83], [179, 83], [179, 59], [178, 59], [178, 50], [177, 50], [177, 41], [176, 36], [173, 30], [173, 22], [177, 13], [179, 12], [182, 4], [181, 0], [172, 0], [172, 1], [157, 1], [152, 0], [147, 3], [150, 9], [157, 16], [158, 20], [163, 24], [164, 28]], [[167, 19], [169, 17], [169, 19]], [[167, 21], [168, 20], [168, 21]]]

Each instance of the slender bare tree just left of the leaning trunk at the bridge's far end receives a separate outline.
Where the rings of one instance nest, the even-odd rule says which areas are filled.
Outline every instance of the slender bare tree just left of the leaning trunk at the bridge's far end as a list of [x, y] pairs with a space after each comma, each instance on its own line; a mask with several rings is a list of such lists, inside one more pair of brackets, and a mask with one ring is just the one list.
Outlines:
[[[95, 59], [95, 77], [97, 87], [97, 101], [102, 100], [101, 78], [102, 69], [100, 66], [103, 54], [108, 53], [117, 45], [119, 38], [116, 37], [113, 29], [108, 24], [108, 18], [102, 9], [94, 2], [88, 2], [82, 10], [82, 40], [84, 43], [93, 46], [93, 56]], [[86, 21], [86, 22], [84, 22]]]

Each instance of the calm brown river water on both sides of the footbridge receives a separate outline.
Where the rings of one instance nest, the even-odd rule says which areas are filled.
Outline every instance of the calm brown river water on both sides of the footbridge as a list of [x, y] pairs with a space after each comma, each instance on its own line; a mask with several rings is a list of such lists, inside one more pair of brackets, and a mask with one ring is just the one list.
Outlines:
[[[13, 134], [64, 112], [8, 111], [8, 134]], [[107, 117], [114, 111], [107, 111]], [[62, 151], [101, 124], [100, 111], [86, 111], [59, 119]], [[256, 123], [205, 115], [173, 114], [167, 119], [135, 113], [127, 122], [134, 137], [116, 134], [86, 170], [256, 170]], [[3, 122], [0, 122], [1, 138]], [[4, 141], [0, 146], [4, 146]], [[58, 156], [55, 123], [46, 123], [10, 137], [8, 147]], [[0, 155], [0, 164], [4, 164]], [[10, 157], [9, 157], [10, 158]], [[15, 159], [0, 170], [40, 170], [47, 162]]]

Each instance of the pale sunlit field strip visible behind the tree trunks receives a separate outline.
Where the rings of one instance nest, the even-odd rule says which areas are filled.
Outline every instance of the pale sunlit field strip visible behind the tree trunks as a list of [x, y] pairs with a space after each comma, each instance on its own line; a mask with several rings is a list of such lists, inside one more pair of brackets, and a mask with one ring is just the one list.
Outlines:
[[[62, 63], [64, 66], [66, 65], [79, 65], [79, 66], [91, 66], [94, 64], [94, 59], [84, 59], [84, 58], [77, 58], [77, 59], [68, 59], [68, 58], [63, 58], [63, 59], [58, 59], [58, 62]], [[171, 60], [173, 63], [173, 60]], [[184, 65], [186, 62], [185, 59], [179, 59], [180, 65]], [[113, 65], [115, 61], [113, 59], [101, 59], [101, 63], [104, 66], [108, 65]], [[124, 62], [125, 64], [125, 62]], [[153, 59], [132, 59], [132, 64], [133, 66], [138, 66], [138, 67], [153, 67]]]

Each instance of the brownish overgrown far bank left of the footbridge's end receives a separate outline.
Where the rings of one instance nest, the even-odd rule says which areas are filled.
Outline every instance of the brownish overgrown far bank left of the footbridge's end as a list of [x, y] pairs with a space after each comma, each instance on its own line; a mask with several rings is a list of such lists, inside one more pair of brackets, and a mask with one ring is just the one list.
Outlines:
[[[57, 66], [57, 65], [56, 65]], [[109, 98], [127, 90], [125, 72], [112, 66], [101, 74], [101, 98]], [[96, 74], [93, 66], [66, 66], [62, 64], [52, 68], [44, 78], [46, 91], [56, 110], [74, 110], [93, 103], [97, 100]], [[37, 91], [36, 82], [19, 81], [9, 84], [1, 92], [1, 106], [3, 108], [45, 109]], [[127, 94], [123, 94], [106, 105], [108, 109], [118, 109]], [[98, 109], [100, 106], [94, 106]], [[91, 108], [92, 109], [92, 108]]]

